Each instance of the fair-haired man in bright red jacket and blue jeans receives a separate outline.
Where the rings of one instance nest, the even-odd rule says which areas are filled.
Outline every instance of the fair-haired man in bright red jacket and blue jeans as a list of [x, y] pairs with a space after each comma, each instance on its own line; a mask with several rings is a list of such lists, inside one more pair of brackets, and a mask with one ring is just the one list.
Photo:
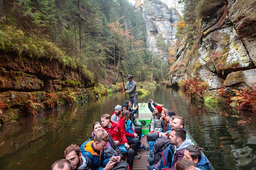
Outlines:
[[133, 166], [134, 150], [128, 145], [126, 135], [124, 134], [121, 125], [118, 122], [111, 121], [109, 114], [103, 114], [101, 116], [101, 124], [104, 130], [106, 130], [113, 138], [114, 142], [118, 144], [120, 151], [124, 154], [127, 153], [127, 163], [130, 168]]

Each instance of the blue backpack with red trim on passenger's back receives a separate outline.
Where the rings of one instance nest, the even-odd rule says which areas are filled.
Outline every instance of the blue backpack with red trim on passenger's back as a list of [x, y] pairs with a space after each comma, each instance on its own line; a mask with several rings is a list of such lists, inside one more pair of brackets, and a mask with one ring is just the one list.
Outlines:
[[169, 170], [173, 167], [173, 155], [174, 155], [173, 145], [169, 145], [168, 148], [162, 151], [162, 157], [158, 165], [158, 170]]

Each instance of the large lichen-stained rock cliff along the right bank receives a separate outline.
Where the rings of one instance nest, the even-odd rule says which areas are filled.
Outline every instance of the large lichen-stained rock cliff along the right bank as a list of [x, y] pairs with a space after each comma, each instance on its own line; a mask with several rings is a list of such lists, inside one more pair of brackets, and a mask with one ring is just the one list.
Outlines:
[[[206, 2], [206, 1], [204, 1]], [[256, 83], [256, 1], [218, 0], [205, 6], [195, 24], [196, 43], [179, 42], [171, 82], [200, 77], [209, 90], [253, 87]], [[209, 91], [209, 92], [210, 92]]]

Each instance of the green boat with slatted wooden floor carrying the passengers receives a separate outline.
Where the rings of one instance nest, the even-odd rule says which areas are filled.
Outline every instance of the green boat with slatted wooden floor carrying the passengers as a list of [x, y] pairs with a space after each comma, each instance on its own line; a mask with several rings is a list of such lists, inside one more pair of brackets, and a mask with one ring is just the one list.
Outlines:
[[[153, 105], [152, 105], [152, 107], [155, 108]], [[144, 102], [139, 103], [139, 117], [137, 117], [136, 119], [139, 120], [140, 123], [142, 123], [142, 133], [145, 137], [141, 138], [141, 143], [146, 146], [148, 146], [146, 136], [149, 133], [148, 124], [151, 122], [151, 117], [152, 117], [152, 112], [148, 108], [148, 103], [144, 103]], [[194, 145], [197, 145], [196, 141], [189, 134], [188, 130], [186, 130], [186, 135], [187, 135], [187, 138], [190, 139]], [[148, 152], [139, 151], [138, 153], [141, 154], [142, 156], [140, 157], [140, 159], [134, 160], [134, 165], [133, 165], [134, 170], [147, 170], [148, 169], [147, 168], [147, 164], [148, 164], [147, 156], [149, 155], [149, 151]], [[202, 150], [201, 150], [201, 153], [204, 154], [204, 152]], [[205, 156], [205, 154], [204, 154], [204, 156]], [[209, 159], [208, 159], [208, 161], [209, 161]], [[214, 167], [212, 166], [210, 161], [209, 161], [209, 165], [211, 167], [211, 170], [214, 170]]]

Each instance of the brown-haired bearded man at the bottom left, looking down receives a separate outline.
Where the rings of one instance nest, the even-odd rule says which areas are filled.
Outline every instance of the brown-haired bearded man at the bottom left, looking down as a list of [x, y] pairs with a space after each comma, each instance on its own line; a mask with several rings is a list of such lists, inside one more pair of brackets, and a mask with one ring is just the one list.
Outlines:
[[73, 165], [73, 170], [94, 170], [91, 160], [82, 155], [76, 144], [68, 146], [64, 151], [64, 156]]

